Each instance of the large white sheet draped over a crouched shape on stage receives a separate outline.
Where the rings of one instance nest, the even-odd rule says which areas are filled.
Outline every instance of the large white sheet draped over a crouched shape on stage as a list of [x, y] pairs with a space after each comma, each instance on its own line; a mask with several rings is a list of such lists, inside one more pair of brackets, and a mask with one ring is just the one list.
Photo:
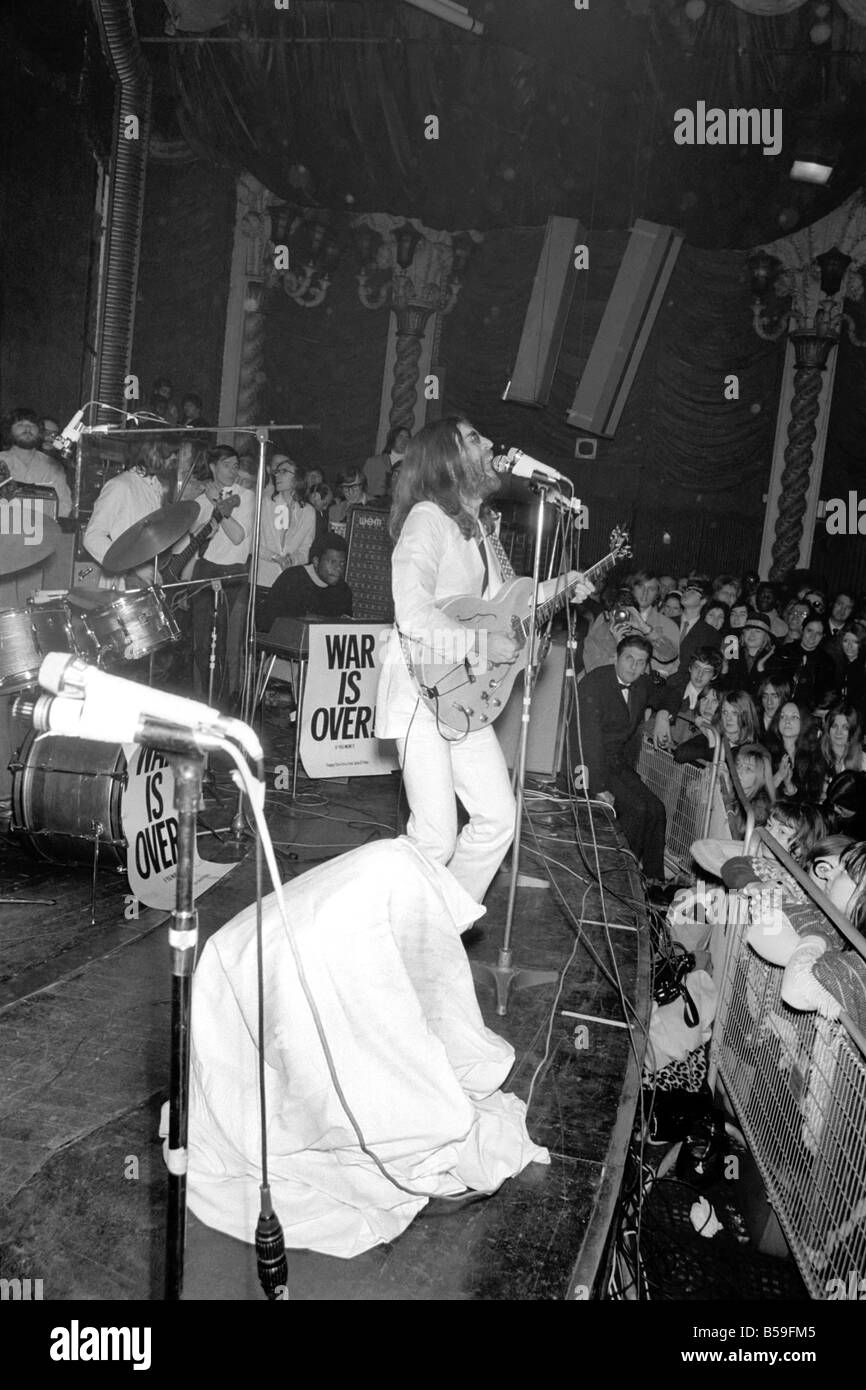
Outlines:
[[[393, 1176], [428, 1195], [493, 1191], [527, 1163], [525, 1106], [499, 1087], [509, 1042], [485, 1027], [460, 931], [484, 912], [405, 838], [285, 887], [346, 1099]], [[357, 1255], [424, 1207], [363, 1152], [332, 1086], [274, 895], [264, 902], [268, 1162], [286, 1245]], [[252, 1243], [259, 1215], [256, 913], [202, 952], [192, 1004], [189, 1207]]]

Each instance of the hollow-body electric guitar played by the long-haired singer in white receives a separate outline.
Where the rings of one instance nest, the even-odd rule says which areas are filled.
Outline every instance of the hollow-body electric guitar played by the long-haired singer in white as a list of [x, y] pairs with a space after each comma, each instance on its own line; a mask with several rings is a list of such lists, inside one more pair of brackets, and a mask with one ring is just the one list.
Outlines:
[[[535, 631], [560, 609], [574, 594], [582, 580], [595, 584], [609, 570], [631, 555], [628, 534], [616, 527], [610, 532], [610, 552], [603, 560], [592, 564], [580, 578], [563, 584], [553, 598], [539, 603], [535, 610]], [[459, 734], [471, 734], [477, 728], [492, 724], [509, 702], [518, 673], [527, 664], [530, 621], [532, 609], [532, 580], [512, 580], [495, 598], [481, 599], [474, 595], [460, 595], [448, 599], [442, 612], [456, 619], [464, 627], [478, 632], [509, 632], [518, 644], [517, 660], [512, 664], [489, 666], [480, 671], [470, 664], [468, 657], [460, 662], [434, 662], [411, 655], [411, 638], [403, 635], [403, 655], [418, 695], [436, 721]], [[480, 644], [484, 653], [484, 644]]]

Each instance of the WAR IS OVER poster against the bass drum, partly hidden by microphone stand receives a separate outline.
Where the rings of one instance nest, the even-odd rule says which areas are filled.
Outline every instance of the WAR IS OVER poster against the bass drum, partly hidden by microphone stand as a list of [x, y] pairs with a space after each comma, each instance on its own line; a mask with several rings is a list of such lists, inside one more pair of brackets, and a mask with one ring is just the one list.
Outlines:
[[[178, 817], [174, 809], [174, 771], [165, 753], [138, 744], [124, 746], [128, 781], [121, 796], [126, 837], [129, 891], [147, 908], [174, 908], [178, 877]], [[196, 849], [199, 898], [235, 867], [211, 865]]]

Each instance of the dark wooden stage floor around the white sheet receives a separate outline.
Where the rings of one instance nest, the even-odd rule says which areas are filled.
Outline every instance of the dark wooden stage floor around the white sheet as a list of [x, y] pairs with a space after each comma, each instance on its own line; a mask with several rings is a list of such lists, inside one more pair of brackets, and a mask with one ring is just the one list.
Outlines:
[[[275, 719], [265, 746], [272, 763], [286, 762], [288, 731]], [[235, 805], [222, 777], [217, 788], [222, 805], [209, 801], [203, 819], [221, 830]], [[295, 806], [288, 792], [270, 794], [285, 877], [393, 835], [398, 792], [395, 774], [302, 780]], [[525, 1098], [546, 1055], [528, 1129], [550, 1150], [550, 1166], [534, 1165], [461, 1211], [420, 1216], [399, 1240], [352, 1261], [289, 1251], [292, 1298], [588, 1297], [632, 1129], [651, 1001], [649, 937], [631, 856], [607, 817], [596, 817], [605, 910], [587, 869], [595, 849], [585, 810], [578, 826], [582, 848], [569, 815], [531, 798], [521, 869], [545, 881], [549, 873], [553, 884], [518, 890], [514, 958], [560, 972], [559, 995], [556, 986], [514, 992], [499, 1017], [491, 990], [478, 987], [485, 1022], [517, 1052], [509, 1088]], [[206, 859], [225, 858], [209, 830], [199, 848]], [[100, 869], [90, 926], [89, 869], [35, 860], [8, 840], [0, 845], [0, 881], [4, 897], [56, 899], [0, 906], [0, 1273], [42, 1279], [46, 1300], [158, 1300], [167, 917], [142, 909], [126, 920], [125, 877]], [[252, 901], [253, 881], [247, 858], [199, 899], [203, 940]], [[506, 890], [500, 876], [467, 945], [474, 960], [496, 958]], [[631, 1029], [612, 962], [634, 1009]], [[190, 1216], [185, 1297], [263, 1298], [252, 1247]]]

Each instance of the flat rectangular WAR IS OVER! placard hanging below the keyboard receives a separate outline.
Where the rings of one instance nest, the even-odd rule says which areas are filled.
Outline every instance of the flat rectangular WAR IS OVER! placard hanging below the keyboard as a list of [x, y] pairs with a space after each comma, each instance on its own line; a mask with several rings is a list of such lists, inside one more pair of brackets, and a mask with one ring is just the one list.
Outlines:
[[392, 738], [375, 738], [382, 656], [378, 623], [316, 623], [300, 724], [307, 777], [377, 777], [398, 766]]

